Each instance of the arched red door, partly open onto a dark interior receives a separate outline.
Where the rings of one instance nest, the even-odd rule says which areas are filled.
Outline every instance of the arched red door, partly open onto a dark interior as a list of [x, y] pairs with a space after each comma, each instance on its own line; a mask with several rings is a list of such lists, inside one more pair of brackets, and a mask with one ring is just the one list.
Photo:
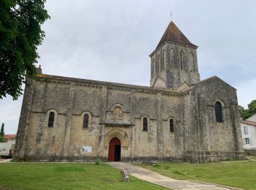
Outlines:
[[109, 161], [120, 161], [121, 159], [121, 142], [117, 137], [113, 137], [113, 139], [109, 142], [108, 148], [108, 160]]

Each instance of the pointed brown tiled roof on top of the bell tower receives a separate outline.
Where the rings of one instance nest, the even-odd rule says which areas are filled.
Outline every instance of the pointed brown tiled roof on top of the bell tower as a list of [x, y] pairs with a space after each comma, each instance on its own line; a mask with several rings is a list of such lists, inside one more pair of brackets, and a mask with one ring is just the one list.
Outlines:
[[[178, 27], [176, 26], [175, 23], [173, 23], [173, 21], [170, 21], [169, 25], [167, 26], [164, 35], [162, 35], [162, 38], [157, 45], [157, 48], [160, 47], [160, 45], [162, 45], [166, 41], [193, 45], [192, 42], [189, 42], [189, 39], [187, 39], [187, 37], [185, 37], [185, 35], [180, 31], [180, 29], [178, 29]], [[196, 45], [193, 45], [193, 46], [196, 46]]]

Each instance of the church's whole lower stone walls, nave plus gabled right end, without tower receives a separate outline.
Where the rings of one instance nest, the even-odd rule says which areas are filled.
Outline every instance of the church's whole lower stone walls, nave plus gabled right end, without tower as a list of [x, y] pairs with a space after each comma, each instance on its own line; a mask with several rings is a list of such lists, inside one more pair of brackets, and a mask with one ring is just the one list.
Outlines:
[[[243, 157], [236, 90], [217, 77], [182, 94], [41, 78], [31, 80], [26, 92], [15, 153], [20, 159], [91, 161], [99, 157], [107, 161], [113, 137], [121, 140], [123, 161]], [[224, 104], [224, 123], [215, 121], [216, 100]], [[48, 127], [50, 112], [55, 113], [52, 128]], [[83, 129], [84, 114], [89, 114], [88, 129]], [[148, 118], [147, 132], [143, 132], [144, 117]], [[170, 132], [170, 118], [174, 132]], [[83, 152], [83, 146], [91, 146], [91, 153]]]

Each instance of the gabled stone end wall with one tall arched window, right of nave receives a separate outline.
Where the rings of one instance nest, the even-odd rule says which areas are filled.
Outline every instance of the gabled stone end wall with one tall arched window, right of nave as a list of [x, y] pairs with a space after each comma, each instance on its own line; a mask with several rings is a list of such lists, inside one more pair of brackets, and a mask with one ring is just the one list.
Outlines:
[[[191, 129], [187, 128], [190, 144], [187, 153], [197, 156], [199, 161], [219, 159], [239, 159], [244, 157], [241, 130], [238, 123], [238, 104], [236, 89], [218, 77], [211, 77], [193, 86], [190, 92], [192, 116]], [[222, 102], [223, 122], [218, 123], [215, 116], [215, 102]], [[197, 119], [193, 119], [197, 118]], [[193, 145], [197, 145], [193, 147]], [[190, 153], [189, 153], [190, 151]]]

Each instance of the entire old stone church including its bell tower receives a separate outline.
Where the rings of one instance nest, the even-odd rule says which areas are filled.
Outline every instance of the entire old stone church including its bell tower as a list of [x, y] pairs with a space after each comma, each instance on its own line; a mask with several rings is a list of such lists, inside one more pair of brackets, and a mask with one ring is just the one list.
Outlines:
[[47, 75], [38, 68], [27, 79], [15, 158], [244, 158], [236, 88], [216, 76], [200, 80], [197, 46], [173, 21], [150, 58], [150, 86]]

